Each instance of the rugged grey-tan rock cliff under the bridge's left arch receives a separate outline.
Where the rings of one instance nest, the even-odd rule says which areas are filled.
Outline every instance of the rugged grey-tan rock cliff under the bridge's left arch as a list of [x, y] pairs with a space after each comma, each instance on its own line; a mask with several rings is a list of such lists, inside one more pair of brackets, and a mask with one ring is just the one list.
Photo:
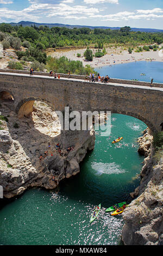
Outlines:
[[64, 148], [58, 116], [43, 102], [35, 101], [32, 115], [22, 119], [8, 103], [0, 106], [0, 185], [6, 198], [28, 187], [57, 187], [60, 180], [79, 172], [79, 162], [95, 146], [92, 127], [79, 133], [82, 143]]

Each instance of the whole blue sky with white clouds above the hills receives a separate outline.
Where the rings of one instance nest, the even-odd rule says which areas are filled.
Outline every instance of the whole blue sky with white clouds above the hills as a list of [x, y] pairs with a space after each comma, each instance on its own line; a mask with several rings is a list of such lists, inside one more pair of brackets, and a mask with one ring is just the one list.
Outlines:
[[163, 29], [163, 0], [0, 0], [0, 23]]

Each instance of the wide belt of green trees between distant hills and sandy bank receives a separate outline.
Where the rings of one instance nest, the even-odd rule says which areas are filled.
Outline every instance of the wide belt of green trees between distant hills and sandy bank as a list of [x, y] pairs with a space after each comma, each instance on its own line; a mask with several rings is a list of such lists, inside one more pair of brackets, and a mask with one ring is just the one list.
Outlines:
[[129, 44], [138, 46], [140, 44], [153, 45], [163, 42], [163, 33], [147, 33], [134, 32], [130, 27], [122, 27], [121, 29], [90, 29], [90, 28], [73, 28], [66, 27], [22, 27], [11, 26], [7, 23], [0, 25], [0, 31], [3, 33], [12, 33], [22, 41], [28, 40], [32, 46], [36, 46], [38, 42], [43, 44], [43, 48], [47, 47], [63, 47], [63, 46], [89, 46], [96, 45], [103, 48], [107, 44]]

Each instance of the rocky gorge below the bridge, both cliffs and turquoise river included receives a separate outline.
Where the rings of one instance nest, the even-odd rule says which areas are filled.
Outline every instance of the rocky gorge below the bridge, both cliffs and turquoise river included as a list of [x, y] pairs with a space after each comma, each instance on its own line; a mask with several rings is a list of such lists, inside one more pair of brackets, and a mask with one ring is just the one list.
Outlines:
[[[1, 114], [8, 117], [8, 122], [2, 121], [3, 127], [9, 131], [1, 147], [1, 184], [5, 197], [11, 198], [5, 199], [0, 213], [1, 244], [158, 243], [162, 167], [161, 163], [153, 167], [150, 161], [153, 137], [142, 121], [112, 114], [110, 136], [100, 136], [92, 129], [82, 147], [74, 147], [68, 154], [62, 150], [60, 156], [55, 147], [61, 142], [60, 124], [48, 105], [35, 101], [32, 116], [23, 119], [17, 119], [5, 104], [1, 106]], [[17, 128], [13, 127], [15, 123]], [[111, 144], [119, 135], [123, 135], [122, 142]], [[48, 156], [43, 155], [45, 151]], [[44, 157], [40, 160], [41, 154]], [[151, 179], [155, 179], [155, 185]], [[122, 216], [105, 213], [110, 205], [123, 200], [129, 207]], [[91, 211], [98, 203], [102, 203], [101, 215], [90, 225]]]

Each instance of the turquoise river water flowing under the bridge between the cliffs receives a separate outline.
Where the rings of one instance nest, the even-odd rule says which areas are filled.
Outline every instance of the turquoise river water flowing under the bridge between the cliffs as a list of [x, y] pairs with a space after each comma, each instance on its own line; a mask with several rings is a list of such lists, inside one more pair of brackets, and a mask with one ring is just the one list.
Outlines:
[[[111, 124], [110, 136], [96, 134], [95, 149], [80, 163], [80, 173], [61, 182], [58, 194], [32, 188], [2, 206], [1, 245], [121, 244], [122, 216], [111, 216], [105, 209], [131, 201], [129, 193], [139, 185], [143, 161], [137, 138], [147, 126], [120, 114], [111, 115]], [[122, 141], [112, 144], [118, 136]], [[99, 203], [101, 212], [90, 224]]]

